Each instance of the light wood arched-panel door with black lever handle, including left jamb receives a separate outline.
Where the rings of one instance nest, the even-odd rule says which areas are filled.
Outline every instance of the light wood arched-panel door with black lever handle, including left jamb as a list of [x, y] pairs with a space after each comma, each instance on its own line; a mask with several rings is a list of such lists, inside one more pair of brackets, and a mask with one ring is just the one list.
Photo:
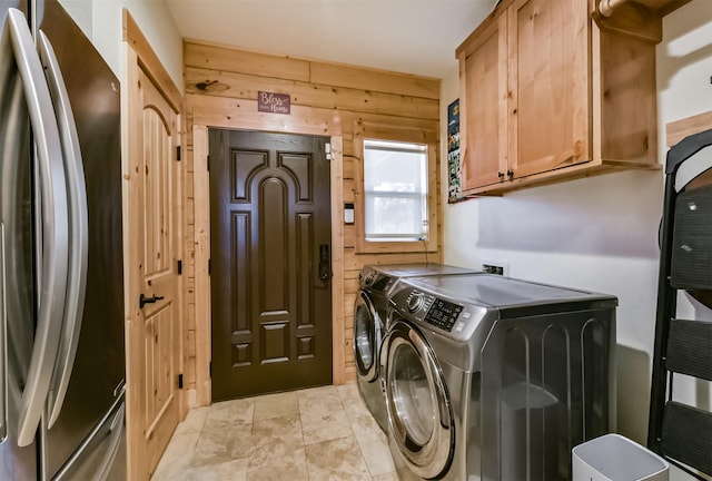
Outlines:
[[156, 469], [179, 420], [181, 352], [178, 118], [139, 69], [129, 108], [134, 208], [129, 218], [129, 451], [131, 477]]

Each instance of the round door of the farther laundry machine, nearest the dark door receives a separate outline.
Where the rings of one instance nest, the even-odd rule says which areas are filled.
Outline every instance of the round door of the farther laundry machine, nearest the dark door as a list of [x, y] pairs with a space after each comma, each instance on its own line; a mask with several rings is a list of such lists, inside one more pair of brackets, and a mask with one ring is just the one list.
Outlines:
[[368, 294], [362, 291], [354, 304], [354, 359], [359, 377], [368, 382], [378, 379], [380, 336], [378, 313]]

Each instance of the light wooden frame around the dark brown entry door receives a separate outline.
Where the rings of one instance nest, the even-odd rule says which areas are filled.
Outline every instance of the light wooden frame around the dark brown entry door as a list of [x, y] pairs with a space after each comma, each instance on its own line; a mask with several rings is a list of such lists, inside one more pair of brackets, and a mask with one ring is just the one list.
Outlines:
[[[293, 106], [293, 119], [288, 125], [275, 128], [266, 121], [265, 114], [240, 111], [238, 115], [220, 115], [211, 109], [192, 110], [192, 169], [195, 202], [195, 310], [196, 310], [196, 404], [210, 405], [212, 384], [210, 379], [211, 307], [210, 276], [210, 179], [208, 174], [208, 126], [264, 132], [329, 136], [332, 145], [330, 203], [332, 203], [332, 383], [345, 382], [344, 333], [344, 160], [343, 135], [338, 124], [315, 122], [306, 115], [299, 116], [299, 107]], [[296, 110], [296, 111], [295, 111]], [[271, 118], [279, 117], [271, 114]], [[296, 119], [295, 119], [296, 118]], [[270, 128], [271, 127], [271, 128]]]

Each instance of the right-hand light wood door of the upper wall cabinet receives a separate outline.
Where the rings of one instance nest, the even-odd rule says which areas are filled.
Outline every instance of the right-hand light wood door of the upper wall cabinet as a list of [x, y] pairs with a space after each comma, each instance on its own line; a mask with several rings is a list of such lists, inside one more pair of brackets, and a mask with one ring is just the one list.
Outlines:
[[591, 159], [586, 0], [516, 0], [507, 11], [514, 177]]

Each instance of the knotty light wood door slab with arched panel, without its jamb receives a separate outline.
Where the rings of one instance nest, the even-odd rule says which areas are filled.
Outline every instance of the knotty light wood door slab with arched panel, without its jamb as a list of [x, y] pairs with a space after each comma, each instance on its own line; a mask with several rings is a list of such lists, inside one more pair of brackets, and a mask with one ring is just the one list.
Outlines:
[[176, 116], [141, 72], [144, 92], [144, 430], [152, 471], [178, 424], [178, 167]]

